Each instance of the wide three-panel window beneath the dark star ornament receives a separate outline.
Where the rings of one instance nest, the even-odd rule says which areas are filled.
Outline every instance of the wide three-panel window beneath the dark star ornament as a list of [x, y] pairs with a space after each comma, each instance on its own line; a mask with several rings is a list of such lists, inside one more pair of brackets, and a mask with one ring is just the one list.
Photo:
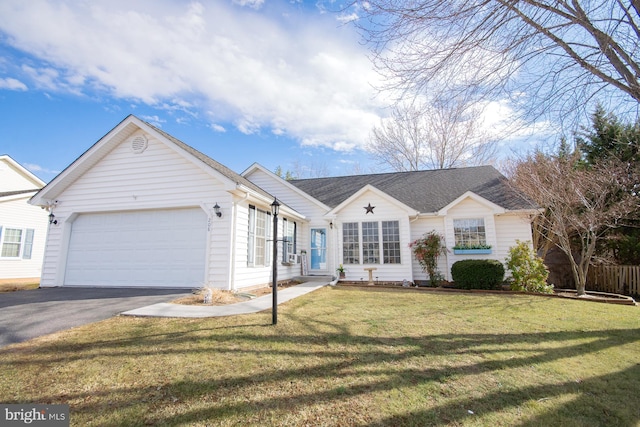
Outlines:
[[400, 223], [371, 221], [342, 224], [342, 263], [360, 264], [361, 259], [362, 264], [400, 264]]

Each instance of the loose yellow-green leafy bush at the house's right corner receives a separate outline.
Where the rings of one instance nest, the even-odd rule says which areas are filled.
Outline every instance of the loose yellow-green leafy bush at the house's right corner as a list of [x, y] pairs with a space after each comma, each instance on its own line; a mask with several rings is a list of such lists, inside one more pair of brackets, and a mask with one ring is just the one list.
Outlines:
[[549, 270], [529, 243], [516, 240], [516, 245], [509, 249], [506, 261], [507, 268], [511, 270], [511, 290], [553, 293], [553, 285], [547, 284]]

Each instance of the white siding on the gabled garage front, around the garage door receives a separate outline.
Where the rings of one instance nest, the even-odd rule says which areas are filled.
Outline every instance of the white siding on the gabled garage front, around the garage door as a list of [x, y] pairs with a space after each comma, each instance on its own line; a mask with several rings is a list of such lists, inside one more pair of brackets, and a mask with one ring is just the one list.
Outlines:
[[[129, 136], [141, 133], [137, 131]], [[223, 212], [232, 206], [232, 197], [223, 181], [199, 167], [199, 161], [190, 161], [152, 135], [148, 148], [134, 154], [129, 136], [104, 157], [87, 168], [84, 174], [62, 193], [56, 195], [60, 204], [55, 207], [57, 225], [52, 225], [47, 241], [47, 253], [42, 267], [41, 286], [63, 286], [66, 258], [69, 250], [74, 217], [95, 212], [121, 212], [138, 210], [180, 209], [201, 206], [206, 214], [218, 203]], [[37, 208], [41, 210], [40, 208]], [[45, 212], [46, 213], [46, 212]], [[206, 215], [205, 214], [205, 215]], [[238, 230], [232, 230], [232, 215], [210, 218], [209, 227], [202, 230], [208, 246], [207, 283], [216, 288], [229, 286], [229, 242]], [[206, 224], [205, 224], [206, 225]], [[246, 233], [246, 222], [241, 227]], [[36, 237], [37, 237], [36, 233]]]

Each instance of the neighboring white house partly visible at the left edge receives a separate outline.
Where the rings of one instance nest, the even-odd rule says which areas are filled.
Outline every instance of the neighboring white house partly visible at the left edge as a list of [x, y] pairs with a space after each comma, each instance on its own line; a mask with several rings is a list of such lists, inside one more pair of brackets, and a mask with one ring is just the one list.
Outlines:
[[0, 156], [0, 281], [38, 281], [48, 212], [27, 202], [45, 183], [7, 155]]

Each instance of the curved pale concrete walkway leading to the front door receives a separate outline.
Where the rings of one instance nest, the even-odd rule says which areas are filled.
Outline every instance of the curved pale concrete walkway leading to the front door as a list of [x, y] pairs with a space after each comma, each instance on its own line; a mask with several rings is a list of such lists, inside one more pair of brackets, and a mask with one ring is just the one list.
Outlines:
[[[330, 279], [306, 278], [307, 282], [301, 283], [290, 288], [278, 290], [278, 305], [287, 302], [293, 298], [313, 292], [316, 289], [327, 285], [335, 285]], [[143, 316], [143, 317], [223, 317], [236, 316], [239, 314], [257, 313], [268, 310], [273, 307], [272, 294], [263, 295], [259, 298], [239, 302], [228, 305], [183, 305], [171, 303], [159, 303], [148, 305], [146, 307], [125, 311], [121, 314], [125, 316]]]

